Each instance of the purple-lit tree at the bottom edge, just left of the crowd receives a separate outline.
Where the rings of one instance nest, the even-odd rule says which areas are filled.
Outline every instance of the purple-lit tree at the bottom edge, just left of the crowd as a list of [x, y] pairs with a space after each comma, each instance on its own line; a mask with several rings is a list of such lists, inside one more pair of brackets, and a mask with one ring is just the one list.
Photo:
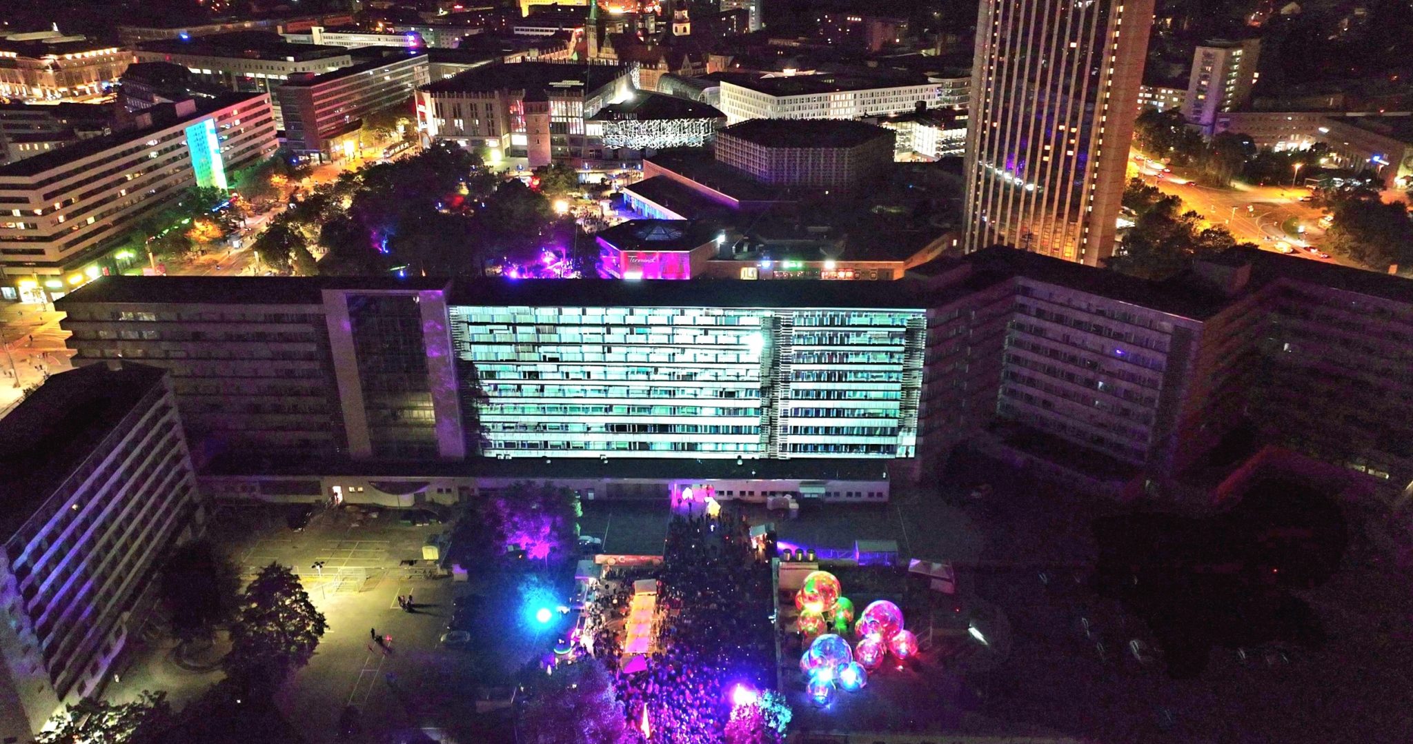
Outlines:
[[537, 675], [524, 707], [521, 741], [533, 744], [619, 744], [632, 741], [623, 703], [603, 664], [584, 658]]

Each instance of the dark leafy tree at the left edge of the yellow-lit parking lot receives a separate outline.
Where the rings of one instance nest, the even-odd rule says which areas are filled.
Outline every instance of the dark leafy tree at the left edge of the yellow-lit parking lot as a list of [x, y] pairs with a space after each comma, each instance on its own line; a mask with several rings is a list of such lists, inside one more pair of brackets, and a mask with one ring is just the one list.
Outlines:
[[300, 577], [287, 566], [270, 563], [240, 597], [230, 624], [226, 673], [278, 685], [309, 664], [325, 630], [328, 623], [314, 608]]

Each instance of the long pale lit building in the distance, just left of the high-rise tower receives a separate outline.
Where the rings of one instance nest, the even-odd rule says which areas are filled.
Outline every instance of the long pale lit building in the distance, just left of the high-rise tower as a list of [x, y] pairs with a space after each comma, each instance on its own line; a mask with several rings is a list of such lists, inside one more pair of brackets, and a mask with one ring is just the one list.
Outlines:
[[940, 83], [911, 73], [729, 75], [721, 80], [726, 123], [747, 119], [858, 119], [938, 103]]

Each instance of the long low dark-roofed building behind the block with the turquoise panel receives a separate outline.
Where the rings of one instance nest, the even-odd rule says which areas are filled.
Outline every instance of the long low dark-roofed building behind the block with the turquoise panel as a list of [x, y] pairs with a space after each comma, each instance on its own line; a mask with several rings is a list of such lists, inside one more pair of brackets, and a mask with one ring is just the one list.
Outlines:
[[213, 34], [191, 40], [148, 41], [133, 51], [141, 62], [172, 62], [187, 68], [198, 83], [227, 90], [268, 93], [276, 126], [284, 114], [276, 89], [294, 75], [322, 75], [353, 65], [343, 47], [291, 44], [277, 34]]

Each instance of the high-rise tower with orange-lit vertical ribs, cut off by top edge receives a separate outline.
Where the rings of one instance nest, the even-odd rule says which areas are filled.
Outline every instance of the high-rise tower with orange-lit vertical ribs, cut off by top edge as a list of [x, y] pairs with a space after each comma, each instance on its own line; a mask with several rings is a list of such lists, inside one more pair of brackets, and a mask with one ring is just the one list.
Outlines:
[[968, 253], [1102, 265], [1153, 0], [981, 0], [964, 178]]

